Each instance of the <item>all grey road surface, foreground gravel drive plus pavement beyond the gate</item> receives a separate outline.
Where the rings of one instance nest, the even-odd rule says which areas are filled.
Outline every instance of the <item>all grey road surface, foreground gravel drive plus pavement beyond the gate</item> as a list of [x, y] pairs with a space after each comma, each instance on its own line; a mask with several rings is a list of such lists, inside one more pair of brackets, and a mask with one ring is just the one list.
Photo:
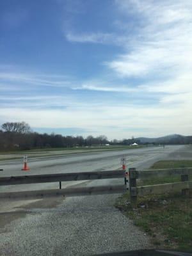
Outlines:
[[[125, 156], [129, 167], [148, 168], [185, 150], [184, 146], [138, 148], [97, 152], [58, 159], [29, 161], [31, 173], [81, 172], [120, 168]], [[179, 153], [180, 156], [180, 153]], [[1, 176], [22, 175], [21, 163], [1, 162]], [[93, 180], [86, 186], [120, 184], [121, 179]], [[64, 182], [63, 182], [64, 183]], [[72, 184], [65, 186], [71, 186]], [[85, 185], [85, 184], [84, 184]], [[25, 186], [25, 185], [24, 185]], [[43, 189], [58, 184], [31, 184], [1, 191]], [[12, 188], [10, 188], [12, 187]], [[119, 195], [79, 196], [34, 201], [9, 200], [0, 203], [0, 255], [93, 255], [94, 253], [151, 248], [150, 237], [141, 232], [113, 206]]]

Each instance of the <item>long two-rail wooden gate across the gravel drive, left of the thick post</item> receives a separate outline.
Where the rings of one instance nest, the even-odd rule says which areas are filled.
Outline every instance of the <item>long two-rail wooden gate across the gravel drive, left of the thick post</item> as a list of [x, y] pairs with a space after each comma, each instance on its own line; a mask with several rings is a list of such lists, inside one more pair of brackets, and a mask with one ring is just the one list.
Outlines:
[[[54, 173], [41, 175], [20, 175], [12, 177], [0, 177], [0, 186], [10, 186], [19, 184], [34, 184], [59, 182], [60, 189], [48, 189], [38, 191], [19, 191], [0, 193], [0, 198], [31, 198], [43, 196], [77, 196], [77, 195], [100, 195], [104, 193], [124, 193], [126, 186], [124, 184], [125, 170], [111, 170], [100, 172], [73, 172], [73, 173]], [[118, 179], [122, 178], [122, 185], [114, 186], [95, 186], [86, 188], [65, 188], [61, 189], [62, 181], [77, 180], [99, 180], [99, 179]]]

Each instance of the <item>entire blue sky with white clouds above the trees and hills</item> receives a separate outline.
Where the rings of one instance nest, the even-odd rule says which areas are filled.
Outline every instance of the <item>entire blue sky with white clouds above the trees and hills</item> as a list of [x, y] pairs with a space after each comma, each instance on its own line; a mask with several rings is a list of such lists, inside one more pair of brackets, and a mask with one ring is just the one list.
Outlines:
[[191, 0], [0, 1], [0, 124], [192, 134]]

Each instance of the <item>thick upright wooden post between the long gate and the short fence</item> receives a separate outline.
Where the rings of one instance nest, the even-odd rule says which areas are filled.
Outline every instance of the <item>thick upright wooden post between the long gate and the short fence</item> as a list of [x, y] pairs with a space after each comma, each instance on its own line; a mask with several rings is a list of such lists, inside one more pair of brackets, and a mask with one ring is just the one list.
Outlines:
[[131, 196], [131, 203], [136, 203], [137, 200], [137, 182], [138, 179], [138, 172], [136, 168], [129, 168], [129, 191]]

